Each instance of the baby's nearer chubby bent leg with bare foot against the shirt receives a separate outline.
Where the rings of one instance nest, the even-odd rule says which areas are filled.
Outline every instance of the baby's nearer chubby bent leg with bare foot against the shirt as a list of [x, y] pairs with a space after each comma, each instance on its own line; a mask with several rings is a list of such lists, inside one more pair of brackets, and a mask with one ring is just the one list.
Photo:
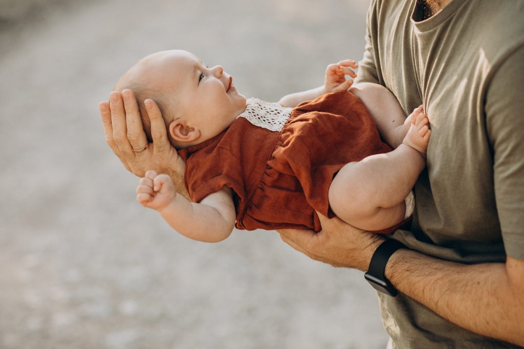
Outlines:
[[397, 149], [348, 163], [333, 178], [329, 201], [337, 217], [364, 230], [402, 221], [404, 200], [425, 167], [430, 136], [428, 117], [421, 110], [408, 118], [412, 125]]

